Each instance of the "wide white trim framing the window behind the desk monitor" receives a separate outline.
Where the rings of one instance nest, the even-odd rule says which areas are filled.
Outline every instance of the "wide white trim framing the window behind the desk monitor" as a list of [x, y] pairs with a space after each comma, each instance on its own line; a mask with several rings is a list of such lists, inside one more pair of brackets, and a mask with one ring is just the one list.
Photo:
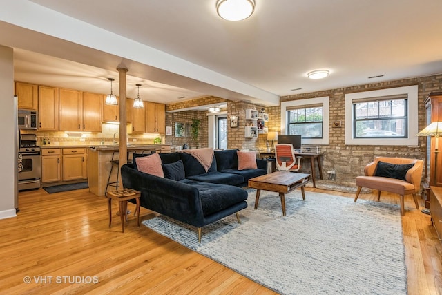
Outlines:
[[286, 135], [287, 126], [287, 107], [305, 106], [308, 104], [323, 104], [323, 138], [302, 138], [302, 144], [329, 144], [329, 115], [330, 115], [330, 97], [315, 97], [309, 99], [291, 100], [281, 102], [281, 135]]

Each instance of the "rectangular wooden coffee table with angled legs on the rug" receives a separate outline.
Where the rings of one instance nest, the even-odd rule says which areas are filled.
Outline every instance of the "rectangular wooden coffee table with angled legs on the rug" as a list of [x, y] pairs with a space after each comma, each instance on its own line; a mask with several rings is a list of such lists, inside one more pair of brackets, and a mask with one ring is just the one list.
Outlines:
[[302, 200], [305, 200], [305, 184], [311, 182], [311, 175], [305, 173], [293, 173], [276, 171], [270, 174], [251, 178], [249, 187], [256, 189], [255, 210], [258, 209], [261, 189], [279, 193], [281, 198], [282, 216], [285, 216], [285, 193], [301, 188]]

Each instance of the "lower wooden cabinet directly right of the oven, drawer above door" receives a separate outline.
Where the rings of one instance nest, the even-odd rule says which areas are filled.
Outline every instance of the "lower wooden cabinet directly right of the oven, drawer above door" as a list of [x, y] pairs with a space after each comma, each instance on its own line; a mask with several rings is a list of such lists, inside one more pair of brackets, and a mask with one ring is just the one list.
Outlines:
[[41, 149], [41, 183], [61, 181], [61, 149]]

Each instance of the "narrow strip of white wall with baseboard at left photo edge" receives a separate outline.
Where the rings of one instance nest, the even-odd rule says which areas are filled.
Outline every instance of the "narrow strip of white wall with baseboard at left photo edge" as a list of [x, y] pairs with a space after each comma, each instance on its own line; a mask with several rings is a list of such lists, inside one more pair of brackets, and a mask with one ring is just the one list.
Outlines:
[[15, 216], [15, 104], [12, 48], [0, 46], [0, 219]]

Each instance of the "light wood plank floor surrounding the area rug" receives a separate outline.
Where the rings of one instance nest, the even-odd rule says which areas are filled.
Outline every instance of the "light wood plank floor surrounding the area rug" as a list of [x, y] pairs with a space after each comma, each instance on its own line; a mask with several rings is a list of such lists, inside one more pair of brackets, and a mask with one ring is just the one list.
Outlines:
[[[325, 192], [307, 189], [307, 198], [308, 191]], [[442, 245], [430, 216], [413, 209], [411, 196], [405, 199], [408, 293], [442, 294]], [[385, 193], [381, 201], [398, 203], [398, 197]], [[118, 216], [109, 228], [105, 198], [88, 189], [21, 192], [19, 208], [17, 218], [0, 220], [1, 294], [275, 294], [147, 227], [137, 228], [133, 216], [124, 234]], [[141, 211], [142, 219], [154, 215]], [[26, 276], [30, 283], [23, 283]]]

